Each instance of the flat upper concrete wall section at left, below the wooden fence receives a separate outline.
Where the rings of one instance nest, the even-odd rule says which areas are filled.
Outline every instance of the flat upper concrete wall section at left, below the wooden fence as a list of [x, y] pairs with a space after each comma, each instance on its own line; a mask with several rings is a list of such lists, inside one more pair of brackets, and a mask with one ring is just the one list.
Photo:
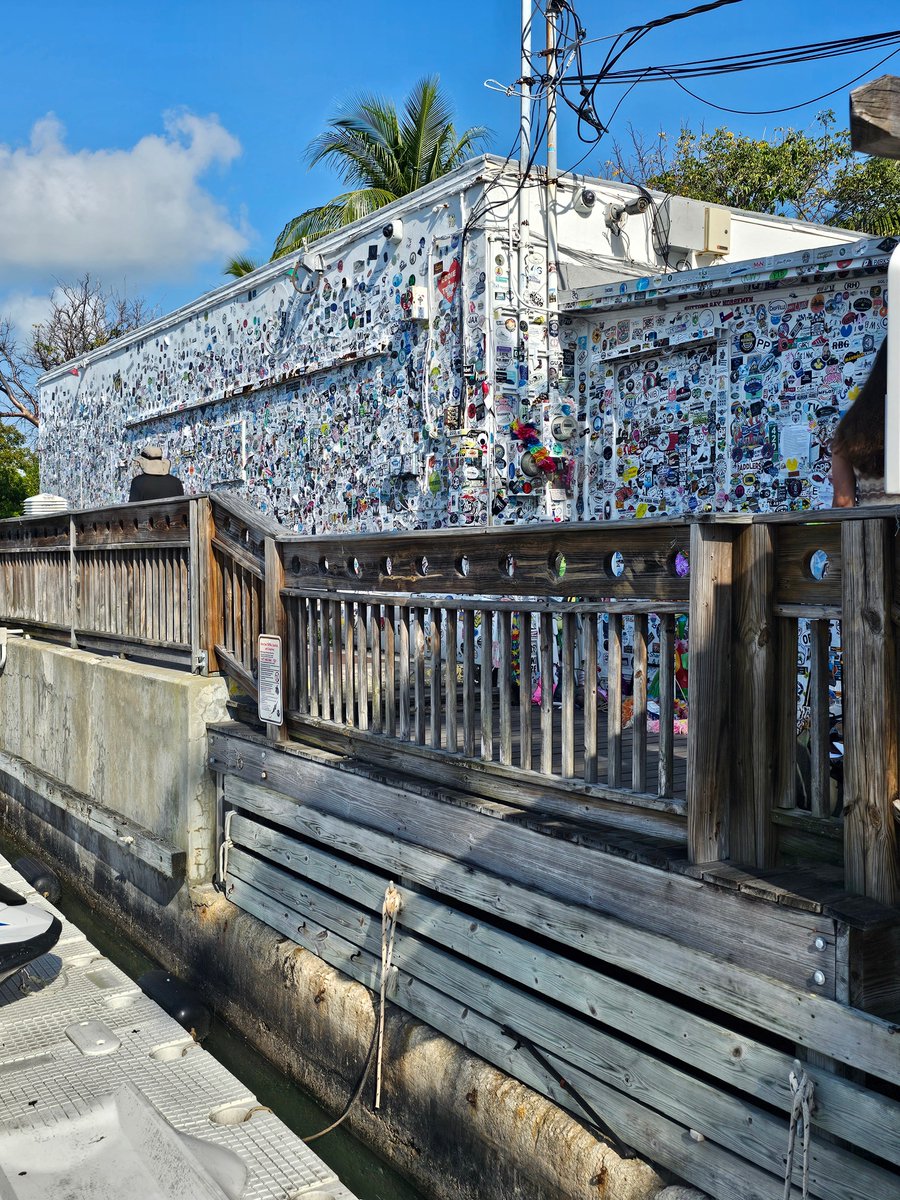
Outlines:
[[0, 676], [0, 754], [143, 826], [187, 854], [187, 880], [215, 864], [206, 724], [226, 719], [226, 683], [13, 638]]

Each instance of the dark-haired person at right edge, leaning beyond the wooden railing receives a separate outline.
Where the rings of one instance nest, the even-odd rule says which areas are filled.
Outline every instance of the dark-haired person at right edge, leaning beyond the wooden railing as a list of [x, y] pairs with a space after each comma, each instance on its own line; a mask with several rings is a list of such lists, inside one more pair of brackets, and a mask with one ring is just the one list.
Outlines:
[[888, 390], [888, 342], [881, 343], [863, 389], [841, 418], [832, 439], [834, 506], [900, 504], [884, 491], [884, 396]]

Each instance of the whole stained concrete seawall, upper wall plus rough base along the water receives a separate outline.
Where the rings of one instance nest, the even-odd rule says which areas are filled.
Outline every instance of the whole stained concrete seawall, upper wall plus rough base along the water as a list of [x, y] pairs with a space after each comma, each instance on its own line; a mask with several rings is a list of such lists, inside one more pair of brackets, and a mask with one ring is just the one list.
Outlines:
[[[218, 679], [13, 642], [0, 677], [0, 824], [340, 1110], [371, 1042], [371, 992], [210, 886], [205, 726], [223, 718], [224, 700]], [[394, 1007], [384, 1061], [383, 1109], [371, 1110], [368, 1087], [349, 1124], [439, 1200], [665, 1195], [648, 1164]]]

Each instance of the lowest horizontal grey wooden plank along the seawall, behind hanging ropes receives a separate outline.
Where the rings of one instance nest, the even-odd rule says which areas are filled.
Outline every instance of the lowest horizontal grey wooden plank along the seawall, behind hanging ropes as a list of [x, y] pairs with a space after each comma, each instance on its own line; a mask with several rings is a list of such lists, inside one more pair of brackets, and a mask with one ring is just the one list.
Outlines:
[[[232, 872], [304, 917], [340, 931], [360, 949], [371, 954], [380, 950], [377, 899], [372, 902], [374, 912], [361, 912], [348, 905], [343, 894], [336, 896], [240, 850], [229, 856], [229, 876]], [[377, 882], [383, 887], [383, 880]], [[404, 888], [400, 890], [403, 908], [419, 904], [416, 893]], [[407, 932], [406, 923], [401, 922], [401, 925], [395, 935], [394, 958], [410, 976], [439, 988], [493, 1020], [521, 1030], [546, 1050], [557, 1052], [566, 1066], [574, 1064], [607, 1086], [636, 1098], [653, 1096], [654, 1105], [666, 1116], [724, 1142], [757, 1166], [773, 1172], [781, 1168], [784, 1121], [652, 1055], [635, 1051], [594, 1022], [586, 1022], [559, 1006], [548, 1004], [544, 997], [485, 974]], [[562, 1054], [558, 1048], [564, 1048]], [[883, 1195], [886, 1186], [894, 1182], [880, 1168], [840, 1154], [828, 1142], [814, 1142], [810, 1159], [810, 1186], [823, 1200], [857, 1200], [857, 1187], [865, 1195]], [[798, 1175], [799, 1170], [798, 1163]]]

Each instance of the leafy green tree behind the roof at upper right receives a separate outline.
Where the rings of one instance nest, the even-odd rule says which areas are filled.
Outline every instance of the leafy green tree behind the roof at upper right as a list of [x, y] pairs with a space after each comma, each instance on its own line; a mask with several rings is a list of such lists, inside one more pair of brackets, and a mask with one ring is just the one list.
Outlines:
[[754, 212], [799, 217], [860, 233], [900, 233], [900, 162], [854, 154], [850, 131], [834, 113], [810, 130], [776, 128], [752, 138], [725, 126], [682, 128], [646, 142], [632, 131], [632, 151], [616, 148], [613, 174], [677, 196]]

